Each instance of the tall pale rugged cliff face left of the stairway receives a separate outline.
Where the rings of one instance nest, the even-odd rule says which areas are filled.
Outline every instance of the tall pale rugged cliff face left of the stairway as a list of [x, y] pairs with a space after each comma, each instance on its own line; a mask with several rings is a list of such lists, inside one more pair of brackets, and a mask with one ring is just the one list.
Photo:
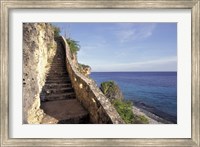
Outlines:
[[23, 123], [40, 123], [43, 118], [40, 93], [55, 53], [50, 24], [23, 24]]

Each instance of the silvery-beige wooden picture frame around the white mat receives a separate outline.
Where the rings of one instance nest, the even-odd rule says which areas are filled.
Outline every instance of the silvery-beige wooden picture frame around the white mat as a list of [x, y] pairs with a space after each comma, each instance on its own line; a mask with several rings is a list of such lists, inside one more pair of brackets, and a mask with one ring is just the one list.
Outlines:
[[[11, 9], [191, 9], [192, 15], [192, 137], [190, 139], [17, 139], [9, 138], [9, 12]], [[200, 146], [200, 1], [1, 1], [1, 146]]]

